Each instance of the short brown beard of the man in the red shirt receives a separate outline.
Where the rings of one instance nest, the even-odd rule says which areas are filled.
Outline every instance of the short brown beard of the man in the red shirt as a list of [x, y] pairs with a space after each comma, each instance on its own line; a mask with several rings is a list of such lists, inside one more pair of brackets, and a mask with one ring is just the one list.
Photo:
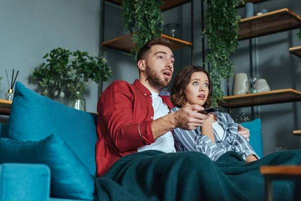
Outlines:
[[[171, 73], [171, 72], [170, 72]], [[172, 74], [171, 74], [172, 77]], [[146, 65], [146, 81], [148, 81], [149, 85], [153, 86], [158, 90], [162, 90], [168, 87], [170, 80], [169, 78], [165, 77], [162, 79], [160, 77], [160, 72], [153, 70], [148, 65]]]

